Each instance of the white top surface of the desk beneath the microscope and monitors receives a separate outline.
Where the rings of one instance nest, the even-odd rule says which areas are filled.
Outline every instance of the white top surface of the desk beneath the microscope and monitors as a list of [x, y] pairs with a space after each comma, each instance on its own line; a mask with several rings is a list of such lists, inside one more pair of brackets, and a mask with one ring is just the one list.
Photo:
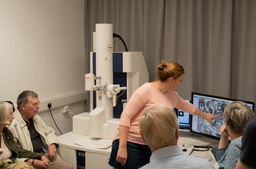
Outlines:
[[[91, 152], [91, 153], [99, 153], [99, 154], [110, 154], [111, 148], [112, 148], [111, 146], [108, 147], [107, 149], [95, 149], [95, 148], [84, 147], [84, 146], [75, 144], [76, 141], [78, 141], [79, 139], [82, 139], [84, 137], [86, 137], [86, 136], [80, 135], [80, 134], [74, 134], [71, 131], [66, 134], [60, 135], [58, 137], [59, 145], [63, 146], [63, 147], [70, 148], [70, 149], [74, 149], [74, 150], [82, 150], [82, 151], [87, 151], [87, 152]], [[215, 145], [218, 145], [218, 141], [190, 133], [189, 131], [179, 131], [178, 144], [215, 146]], [[212, 157], [212, 160], [210, 161], [211, 164], [213, 165], [216, 162], [211, 151], [208, 151], [208, 152], [192, 151], [191, 155], [198, 156], [198, 157], [204, 157], [206, 155], [209, 155]]]

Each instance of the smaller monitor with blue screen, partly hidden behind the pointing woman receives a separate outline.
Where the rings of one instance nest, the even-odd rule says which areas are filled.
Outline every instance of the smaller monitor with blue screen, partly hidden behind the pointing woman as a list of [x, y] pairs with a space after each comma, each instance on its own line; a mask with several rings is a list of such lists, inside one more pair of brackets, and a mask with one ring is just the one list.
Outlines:
[[[188, 103], [191, 103], [191, 100], [184, 99]], [[177, 108], [174, 108], [176, 111], [176, 115], [179, 121], [179, 129], [182, 130], [189, 130], [189, 124], [190, 124], [190, 114], [187, 112], [183, 112], [181, 110], [178, 110]]]

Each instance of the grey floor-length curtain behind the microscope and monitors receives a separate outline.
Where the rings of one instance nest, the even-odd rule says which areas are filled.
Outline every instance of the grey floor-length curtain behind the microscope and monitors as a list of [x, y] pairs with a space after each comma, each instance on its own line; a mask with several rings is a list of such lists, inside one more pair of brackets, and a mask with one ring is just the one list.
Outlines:
[[[256, 101], [255, 0], [85, 0], [86, 72], [96, 23], [112, 23], [129, 51], [142, 51], [150, 81], [160, 60], [180, 63], [177, 92]], [[124, 51], [117, 41], [114, 51]]]

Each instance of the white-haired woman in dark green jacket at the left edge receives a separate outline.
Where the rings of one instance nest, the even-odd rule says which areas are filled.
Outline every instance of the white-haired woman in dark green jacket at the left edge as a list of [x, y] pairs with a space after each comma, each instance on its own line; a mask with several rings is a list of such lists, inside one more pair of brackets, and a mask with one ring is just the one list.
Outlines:
[[[12, 119], [14, 119], [14, 107], [12, 104], [0, 101], [0, 168], [8, 169], [26, 169], [34, 168], [33, 164], [26, 161], [29, 158], [49, 162], [45, 155], [34, 153], [28, 150], [21, 150], [11, 133], [6, 126], [10, 126]], [[14, 163], [17, 158], [24, 158], [23, 162]]]

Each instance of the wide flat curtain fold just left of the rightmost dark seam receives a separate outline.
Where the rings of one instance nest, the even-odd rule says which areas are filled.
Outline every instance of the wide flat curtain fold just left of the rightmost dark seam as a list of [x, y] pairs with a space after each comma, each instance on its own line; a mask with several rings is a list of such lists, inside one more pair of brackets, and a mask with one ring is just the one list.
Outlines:
[[230, 96], [232, 0], [212, 0], [210, 6], [206, 92]]

